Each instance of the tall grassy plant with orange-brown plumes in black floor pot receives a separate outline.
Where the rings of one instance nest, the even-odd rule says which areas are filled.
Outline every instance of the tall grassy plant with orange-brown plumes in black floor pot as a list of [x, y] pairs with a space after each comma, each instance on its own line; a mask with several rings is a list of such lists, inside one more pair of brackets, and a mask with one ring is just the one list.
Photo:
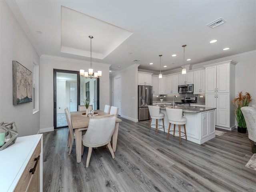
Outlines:
[[242, 91], [239, 92], [238, 95], [233, 100], [237, 121], [237, 131], [240, 133], [246, 133], [246, 122], [244, 120], [244, 115], [241, 111], [241, 108], [244, 106], [249, 106], [251, 101], [252, 95], [248, 92], [243, 94]]

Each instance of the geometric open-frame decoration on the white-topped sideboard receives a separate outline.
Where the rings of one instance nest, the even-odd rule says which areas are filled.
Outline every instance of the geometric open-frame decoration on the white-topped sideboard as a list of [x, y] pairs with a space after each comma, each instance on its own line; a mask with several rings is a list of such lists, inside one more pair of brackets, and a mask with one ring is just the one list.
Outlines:
[[18, 130], [15, 122], [0, 123], [0, 130], [4, 130], [4, 132], [0, 132], [0, 140], [4, 138], [4, 144], [0, 146], [1, 151], [16, 142], [16, 139], [18, 137]]

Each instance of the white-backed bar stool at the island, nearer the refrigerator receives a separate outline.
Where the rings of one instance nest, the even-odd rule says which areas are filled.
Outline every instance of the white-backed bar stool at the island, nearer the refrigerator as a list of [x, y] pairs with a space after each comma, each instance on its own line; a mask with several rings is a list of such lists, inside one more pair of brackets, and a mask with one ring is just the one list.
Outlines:
[[[160, 113], [160, 107], [159, 106], [148, 106], [149, 114], [150, 114], [150, 123], [149, 123], [149, 129], [148, 132], [150, 132], [150, 127], [152, 125], [156, 126], [156, 134], [158, 134], [158, 126], [160, 126], [160, 129], [164, 129], [164, 114]], [[152, 119], [156, 120], [156, 124], [151, 124]], [[163, 125], [158, 125], [158, 119], [162, 119]], [[164, 131], [165, 133], [165, 131]]]

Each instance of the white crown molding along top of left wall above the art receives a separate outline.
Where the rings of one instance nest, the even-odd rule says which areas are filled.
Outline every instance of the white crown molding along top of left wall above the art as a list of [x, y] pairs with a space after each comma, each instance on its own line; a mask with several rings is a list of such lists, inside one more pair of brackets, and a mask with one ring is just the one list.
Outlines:
[[36, 50], [36, 53], [40, 57], [42, 55], [42, 52], [40, 51], [39, 46], [36, 43], [36, 40], [35, 40], [34, 36], [32, 35], [32, 32], [30, 31], [28, 24], [27, 24], [26, 20], [24, 19], [16, 1], [15, 0], [12, 0], [12, 1], [5, 0], [5, 2], [6, 2], [6, 4], [8, 4], [10, 10], [14, 14], [15, 18], [18, 20], [18, 23], [20, 24], [21, 28], [24, 30], [26, 36], [30, 40], [34, 49]]

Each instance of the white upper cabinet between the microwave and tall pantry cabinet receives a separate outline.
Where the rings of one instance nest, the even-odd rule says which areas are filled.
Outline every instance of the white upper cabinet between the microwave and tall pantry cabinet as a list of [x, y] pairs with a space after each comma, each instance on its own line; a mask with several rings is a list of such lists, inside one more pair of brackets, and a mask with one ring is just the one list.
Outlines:
[[205, 93], [205, 69], [194, 71], [194, 94]]

